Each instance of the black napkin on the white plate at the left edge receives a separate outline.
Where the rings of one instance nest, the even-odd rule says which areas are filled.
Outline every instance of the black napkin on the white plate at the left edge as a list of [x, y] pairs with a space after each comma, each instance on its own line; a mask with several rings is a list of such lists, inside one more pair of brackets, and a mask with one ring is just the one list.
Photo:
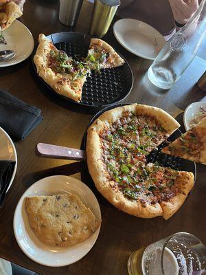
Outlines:
[[16, 162], [0, 160], [0, 208], [3, 206], [5, 192], [10, 184]]

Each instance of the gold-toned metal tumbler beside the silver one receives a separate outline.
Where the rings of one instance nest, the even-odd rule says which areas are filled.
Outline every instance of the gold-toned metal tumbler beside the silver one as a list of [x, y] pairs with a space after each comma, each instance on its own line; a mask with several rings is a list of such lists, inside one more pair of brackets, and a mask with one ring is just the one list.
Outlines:
[[108, 31], [119, 5], [119, 0], [95, 0], [89, 33], [101, 39]]

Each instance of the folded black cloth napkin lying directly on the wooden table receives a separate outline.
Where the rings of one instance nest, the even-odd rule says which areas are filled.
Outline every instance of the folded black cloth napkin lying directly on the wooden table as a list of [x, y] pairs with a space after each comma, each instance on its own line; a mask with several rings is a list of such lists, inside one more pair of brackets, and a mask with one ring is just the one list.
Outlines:
[[16, 140], [23, 140], [43, 120], [41, 110], [0, 89], [0, 126]]

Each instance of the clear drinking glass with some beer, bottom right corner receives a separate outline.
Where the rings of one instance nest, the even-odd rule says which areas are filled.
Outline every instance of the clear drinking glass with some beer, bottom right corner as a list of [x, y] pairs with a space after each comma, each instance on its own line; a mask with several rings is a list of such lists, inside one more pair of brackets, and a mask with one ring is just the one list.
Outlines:
[[206, 247], [190, 233], [175, 233], [133, 252], [128, 259], [128, 274], [206, 274]]

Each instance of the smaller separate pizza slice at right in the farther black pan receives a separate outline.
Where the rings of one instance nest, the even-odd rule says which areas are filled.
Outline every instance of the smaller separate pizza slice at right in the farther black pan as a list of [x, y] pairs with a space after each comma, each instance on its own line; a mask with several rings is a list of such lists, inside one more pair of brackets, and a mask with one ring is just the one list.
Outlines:
[[125, 63], [113, 47], [101, 39], [91, 39], [86, 61], [91, 69], [98, 72], [100, 69], [119, 67]]

